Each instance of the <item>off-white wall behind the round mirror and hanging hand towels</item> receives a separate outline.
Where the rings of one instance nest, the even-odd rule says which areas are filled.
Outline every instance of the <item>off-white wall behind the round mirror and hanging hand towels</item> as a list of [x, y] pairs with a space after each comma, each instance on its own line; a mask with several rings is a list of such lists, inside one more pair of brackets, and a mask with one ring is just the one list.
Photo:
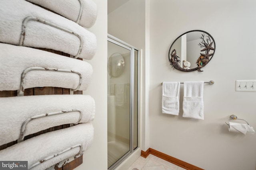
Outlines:
[[[255, 170], [256, 135], [225, 124], [235, 114], [256, 129], [256, 93], [235, 92], [235, 80], [256, 79], [255, 8], [252, 0], [150, 0], [151, 148], [206, 170]], [[194, 29], [214, 37], [214, 57], [204, 72], [173, 70], [170, 45]], [[196, 80], [215, 81], [204, 85], [204, 120], [182, 117], [182, 85], [180, 115], [161, 113], [161, 82]]]

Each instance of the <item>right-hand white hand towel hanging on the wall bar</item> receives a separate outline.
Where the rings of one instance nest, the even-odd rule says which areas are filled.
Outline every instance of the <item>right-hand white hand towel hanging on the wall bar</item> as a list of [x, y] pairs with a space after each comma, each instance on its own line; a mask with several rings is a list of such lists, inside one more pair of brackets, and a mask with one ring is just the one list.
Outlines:
[[184, 82], [183, 117], [204, 119], [204, 82]]

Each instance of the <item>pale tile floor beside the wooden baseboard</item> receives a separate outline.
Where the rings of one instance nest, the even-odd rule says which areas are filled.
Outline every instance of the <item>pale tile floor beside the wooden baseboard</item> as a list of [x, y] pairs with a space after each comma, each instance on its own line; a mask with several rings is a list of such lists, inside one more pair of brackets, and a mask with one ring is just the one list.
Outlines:
[[[137, 169], [136, 169], [137, 168]], [[140, 156], [128, 170], [186, 170], [171, 162], [149, 154], [147, 158]]]

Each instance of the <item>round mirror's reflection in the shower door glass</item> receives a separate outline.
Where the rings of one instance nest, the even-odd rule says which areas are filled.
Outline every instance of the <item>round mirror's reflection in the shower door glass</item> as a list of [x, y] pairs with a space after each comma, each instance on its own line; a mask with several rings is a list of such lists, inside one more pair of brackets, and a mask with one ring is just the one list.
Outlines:
[[120, 53], [114, 53], [108, 58], [108, 74], [118, 77], [124, 71], [124, 57]]

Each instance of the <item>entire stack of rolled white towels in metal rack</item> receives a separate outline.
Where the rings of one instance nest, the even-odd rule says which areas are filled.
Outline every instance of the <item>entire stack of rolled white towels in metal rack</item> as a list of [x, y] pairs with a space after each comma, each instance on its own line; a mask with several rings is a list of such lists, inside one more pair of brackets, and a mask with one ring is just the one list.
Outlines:
[[[0, 91], [33, 87], [86, 90], [96, 36], [88, 31], [97, 17], [93, 0], [1, 0]], [[51, 49], [70, 57], [44, 51]], [[44, 170], [83, 154], [93, 141], [95, 102], [89, 95], [0, 98], [0, 160], [28, 161]], [[30, 139], [39, 131], [71, 124]]]

